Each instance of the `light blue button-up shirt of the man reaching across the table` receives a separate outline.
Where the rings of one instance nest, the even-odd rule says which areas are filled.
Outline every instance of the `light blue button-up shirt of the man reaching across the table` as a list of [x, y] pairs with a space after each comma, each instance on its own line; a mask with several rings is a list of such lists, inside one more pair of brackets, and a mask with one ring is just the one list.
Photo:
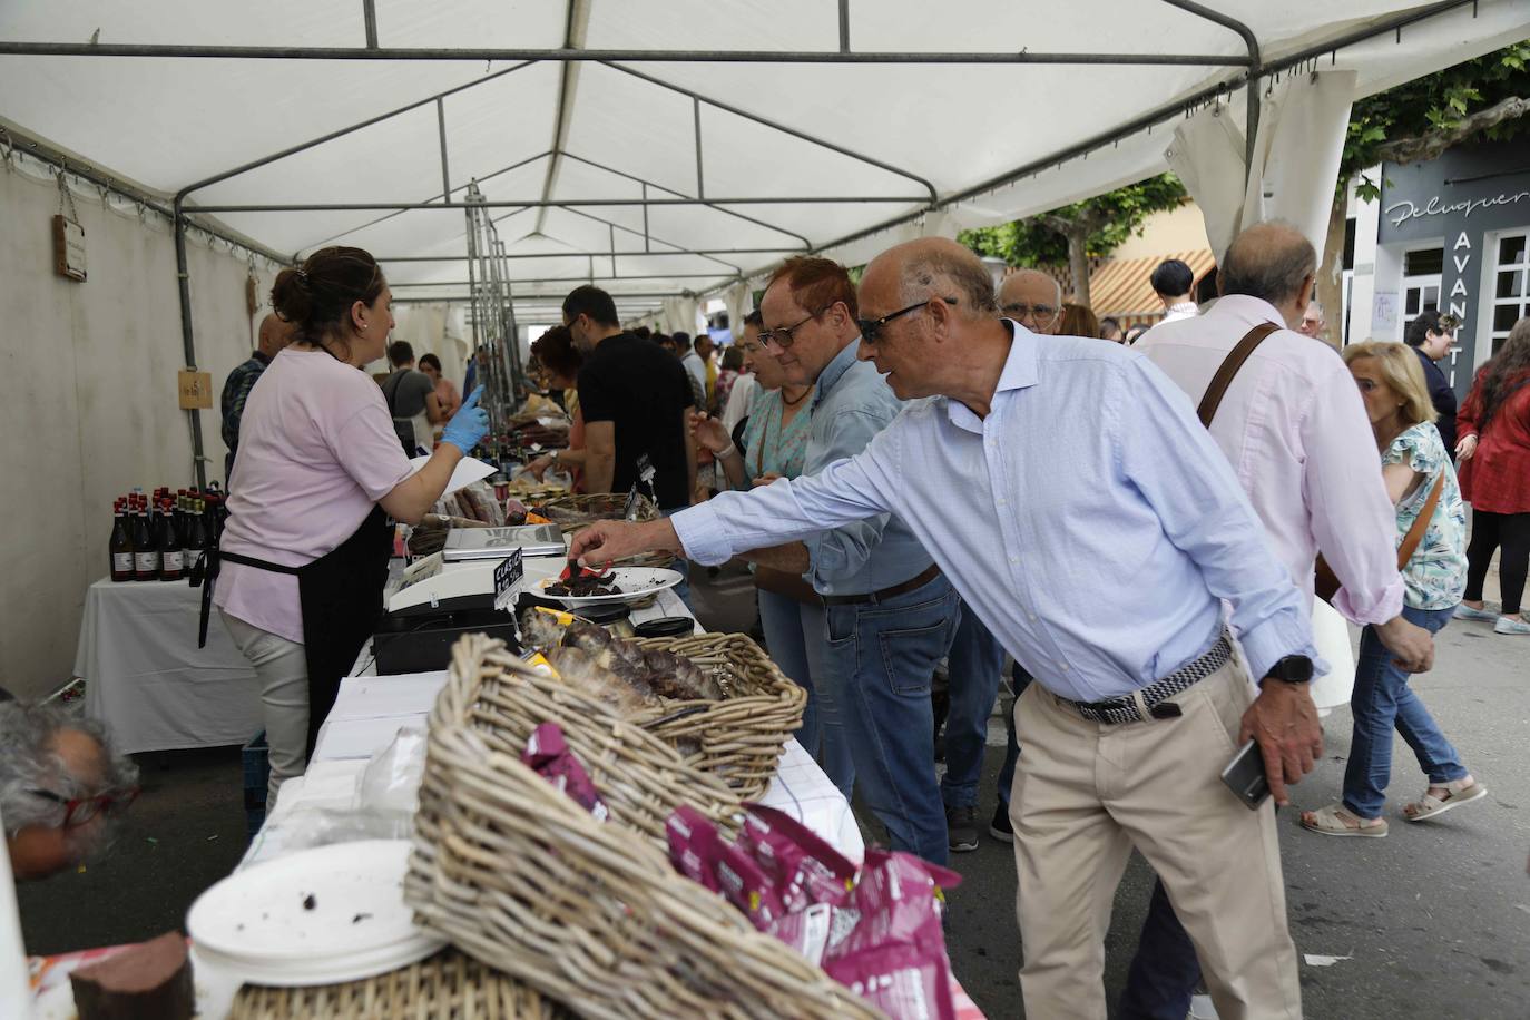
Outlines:
[[892, 512], [1063, 697], [1129, 694], [1195, 659], [1221, 632], [1221, 599], [1256, 677], [1287, 655], [1327, 671], [1300, 593], [1184, 393], [1117, 344], [1010, 329], [987, 417], [913, 401], [817, 476], [675, 514], [687, 555], [722, 563]]

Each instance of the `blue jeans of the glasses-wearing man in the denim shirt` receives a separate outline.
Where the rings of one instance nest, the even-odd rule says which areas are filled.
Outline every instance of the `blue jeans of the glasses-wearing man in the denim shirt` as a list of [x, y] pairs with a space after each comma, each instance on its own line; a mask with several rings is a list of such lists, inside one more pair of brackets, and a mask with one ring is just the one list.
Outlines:
[[930, 676], [950, 650], [961, 603], [944, 577], [889, 599], [825, 607], [826, 679], [866, 806], [894, 850], [944, 864]]

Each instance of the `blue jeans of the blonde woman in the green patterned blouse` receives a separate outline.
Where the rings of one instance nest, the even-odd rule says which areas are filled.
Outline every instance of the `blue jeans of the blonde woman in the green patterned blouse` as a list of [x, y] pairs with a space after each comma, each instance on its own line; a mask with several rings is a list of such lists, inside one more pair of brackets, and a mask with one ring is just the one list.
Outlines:
[[[1455, 607], [1403, 606], [1403, 619], [1431, 635], [1440, 633], [1454, 613]], [[1354, 736], [1349, 740], [1349, 765], [1343, 771], [1343, 806], [1359, 818], [1382, 817], [1386, 784], [1392, 778], [1394, 726], [1414, 749], [1431, 786], [1444, 786], [1467, 775], [1461, 755], [1408, 687], [1408, 676], [1392, 664], [1392, 653], [1375, 630], [1366, 627], [1360, 635], [1360, 661], [1354, 667], [1354, 694], [1349, 696]]]

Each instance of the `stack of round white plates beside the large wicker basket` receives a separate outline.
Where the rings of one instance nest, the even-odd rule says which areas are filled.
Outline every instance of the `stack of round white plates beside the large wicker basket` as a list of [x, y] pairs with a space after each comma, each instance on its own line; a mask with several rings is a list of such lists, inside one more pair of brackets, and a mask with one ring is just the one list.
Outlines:
[[445, 939], [404, 905], [407, 840], [301, 850], [225, 878], [187, 914], [199, 959], [256, 985], [335, 985], [425, 959]]

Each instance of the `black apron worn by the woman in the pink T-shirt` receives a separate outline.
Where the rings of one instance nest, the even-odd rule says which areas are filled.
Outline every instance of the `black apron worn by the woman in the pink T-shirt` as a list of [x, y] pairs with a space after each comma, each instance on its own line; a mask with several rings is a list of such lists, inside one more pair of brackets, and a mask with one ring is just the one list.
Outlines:
[[257, 570], [297, 575], [303, 610], [303, 655], [308, 661], [308, 757], [314, 755], [318, 728], [335, 707], [341, 677], [350, 673], [361, 647], [382, 616], [382, 589], [387, 586], [392, 552], [393, 529], [382, 508], [373, 506], [350, 538], [304, 566], [288, 567], [213, 547], [202, 554], [193, 570], [191, 583], [202, 583], [199, 648], [207, 645], [213, 583], [222, 560]]

